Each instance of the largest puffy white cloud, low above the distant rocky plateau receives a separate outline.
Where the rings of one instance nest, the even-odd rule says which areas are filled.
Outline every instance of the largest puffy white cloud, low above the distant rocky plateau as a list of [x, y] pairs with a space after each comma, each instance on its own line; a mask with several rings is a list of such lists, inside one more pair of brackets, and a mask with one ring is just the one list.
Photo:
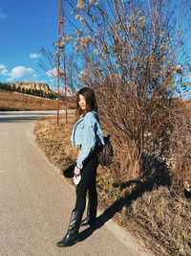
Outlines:
[[7, 81], [13, 81], [13, 80], [35, 80], [36, 75], [32, 68], [27, 68], [24, 66], [17, 66], [12, 68], [11, 72], [8, 74], [10, 77], [7, 79]]

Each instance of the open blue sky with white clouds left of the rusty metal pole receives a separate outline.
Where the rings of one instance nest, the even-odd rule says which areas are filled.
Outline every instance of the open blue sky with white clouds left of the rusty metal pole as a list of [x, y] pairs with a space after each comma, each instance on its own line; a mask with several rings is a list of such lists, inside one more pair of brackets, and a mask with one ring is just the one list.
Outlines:
[[0, 82], [53, 82], [35, 60], [57, 41], [58, 13], [59, 0], [0, 0]]

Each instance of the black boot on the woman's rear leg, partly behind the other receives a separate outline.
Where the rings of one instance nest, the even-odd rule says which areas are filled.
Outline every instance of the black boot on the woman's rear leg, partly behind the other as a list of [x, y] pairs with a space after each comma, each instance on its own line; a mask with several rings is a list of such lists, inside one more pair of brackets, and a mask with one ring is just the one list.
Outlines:
[[83, 221], [81, 221], [80, 225], [90, 225], [95, 226], [96, 225], [96, 207], [97, 203], [90, 203], [90, 200], [88, 201], [88, 208], [87, 208], [87, 217]]

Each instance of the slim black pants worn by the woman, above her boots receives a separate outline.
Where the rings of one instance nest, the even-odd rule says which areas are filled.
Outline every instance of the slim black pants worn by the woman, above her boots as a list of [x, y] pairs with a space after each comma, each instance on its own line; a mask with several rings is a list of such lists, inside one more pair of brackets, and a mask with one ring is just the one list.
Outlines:
[[84, 212], [86, 207], [86, 194], [89, 193], [89, 202], [93, 206], [97, 204], [96, 193], [96, 169], [98, 160], [96, 152], [86, 160], [83, 169], [81, 170], [81, 181], [76, 186], [76, 201], [75, 209]]

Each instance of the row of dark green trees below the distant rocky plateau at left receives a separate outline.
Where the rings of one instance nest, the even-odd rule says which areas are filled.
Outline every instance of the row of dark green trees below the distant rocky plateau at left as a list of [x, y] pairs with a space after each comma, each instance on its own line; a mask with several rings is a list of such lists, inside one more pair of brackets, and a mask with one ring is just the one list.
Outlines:
[[25, 87], [21, 87], [21, 86], [16, 87], [14, 84], [11, 85], [9, 83], [3, 83], [3, 82], [0, 82], [0, 89], [8, 90], [8, 91], [16, 91], [16, 92], [20, 92], [20, 93], [30, 94], [30, 95], [34, 95], [37, 97], [44, 97], [44, 98], [53, 99], [53, 100], [55, 100], [57, 97], [56, 93], [54, 93], [54, 92], [45, 92], [42, 90], [25, 88]]

